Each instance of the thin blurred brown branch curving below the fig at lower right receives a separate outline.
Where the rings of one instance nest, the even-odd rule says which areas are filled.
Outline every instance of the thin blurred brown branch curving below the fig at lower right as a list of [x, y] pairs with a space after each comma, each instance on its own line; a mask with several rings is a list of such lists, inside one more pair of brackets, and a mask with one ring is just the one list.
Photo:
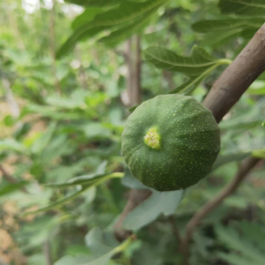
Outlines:
[[201, 220], [209, 214], [212, 210], [218, 207], [222, 201], [231, 195], [238, 188], [242, 180], [247, 176], [249, 171], [260, 161], [258, 158], [246, 158], [245, 161], [242, 162], [238, 173], [231, 180], [231, 182], [227, 183], [211, 200], [206, 202], [198, 211], [193, 215], [193, 217], [189, 220], [186, 225], [186, 232], [183, 240], [180, 244], [180, 249], [188, 256], [189, 253], [189, 241], [192, 237], [193, 231], [200, 224]]

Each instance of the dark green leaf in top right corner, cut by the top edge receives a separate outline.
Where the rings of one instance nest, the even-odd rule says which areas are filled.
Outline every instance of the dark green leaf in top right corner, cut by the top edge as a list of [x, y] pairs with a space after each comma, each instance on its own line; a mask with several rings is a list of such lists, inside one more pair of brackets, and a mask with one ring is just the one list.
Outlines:
[[263, 0], [220, 0], [218, 6], [224, 14], [265, 16], [265, 3]]

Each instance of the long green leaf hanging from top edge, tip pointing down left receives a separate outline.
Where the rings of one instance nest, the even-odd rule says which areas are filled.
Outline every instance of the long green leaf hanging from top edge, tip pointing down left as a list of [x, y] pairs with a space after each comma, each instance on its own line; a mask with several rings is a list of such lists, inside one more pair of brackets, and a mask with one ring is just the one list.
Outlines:
[[[73, 35], [64, 43], [57, 53], [57, 57], [67, 54], [71, 51], [77, 41], [95, 36], [102, 30], [118, 30], [127, 27], [130, 24], [139, 23], [139, 19], [146, 19], [147, 16], [155, 12], [161, 5], [169, 0], [149, 0], [143, 3], [122, 2], [118, 8], [107, 12], [97, 14], [94, 20], [82, 25]], [[122, 31], [124, 34], [124, 32]], [[120, 34], [121, 36], [121, 34]]]

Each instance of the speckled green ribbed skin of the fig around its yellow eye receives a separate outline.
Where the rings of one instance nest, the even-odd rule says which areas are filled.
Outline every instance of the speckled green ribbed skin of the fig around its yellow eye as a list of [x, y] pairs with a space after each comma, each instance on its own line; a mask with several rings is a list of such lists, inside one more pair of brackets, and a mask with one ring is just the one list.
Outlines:
[[[146, 144], [156, 128], [160, 148]], [[185, 189], [204, 178], [220, 150], [220, 129], [191, 96], [160, 95], [140, 104], [121, 136], [122, 155], [131, 173], [158, 191]]]

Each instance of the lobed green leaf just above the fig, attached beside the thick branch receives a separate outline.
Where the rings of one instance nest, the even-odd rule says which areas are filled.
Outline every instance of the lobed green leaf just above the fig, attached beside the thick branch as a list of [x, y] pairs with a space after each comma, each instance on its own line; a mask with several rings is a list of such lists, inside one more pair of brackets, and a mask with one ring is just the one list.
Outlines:
[[163, 47], [150, 47], [144, 52], [145, 59], [157, 68], [198, 76], [217, 62], [204, 49], [193, 46], [191, 57], [183, 57]]

